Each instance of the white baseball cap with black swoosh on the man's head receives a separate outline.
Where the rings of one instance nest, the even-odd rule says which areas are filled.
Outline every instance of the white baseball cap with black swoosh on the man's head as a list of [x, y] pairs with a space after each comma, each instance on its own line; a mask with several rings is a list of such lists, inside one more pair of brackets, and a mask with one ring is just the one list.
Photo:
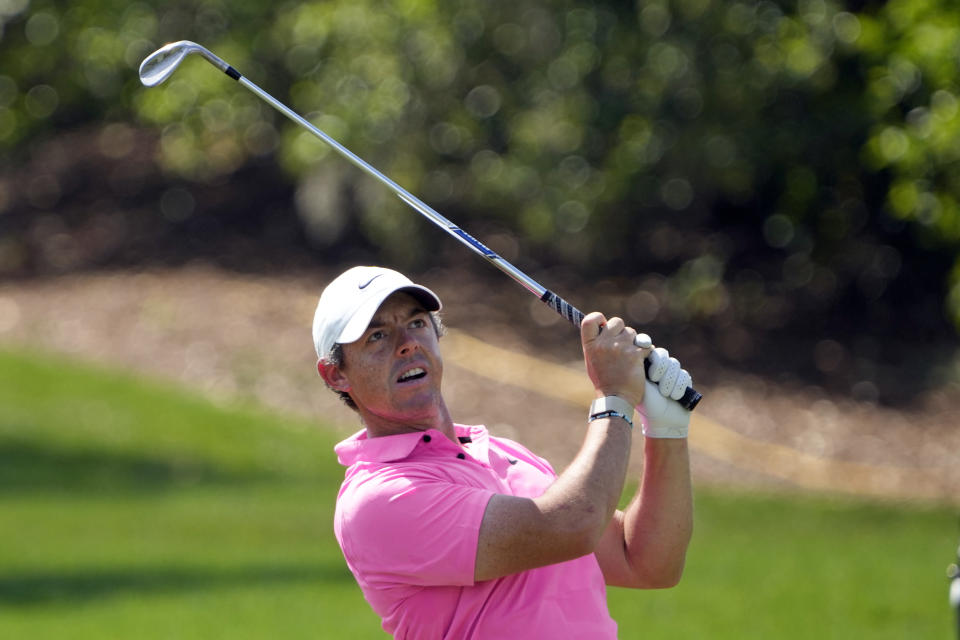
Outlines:
[[341, 273], [320, 294], [313, 314], [313, 345], [323, 359], [333, 345], [360, 339], [383, 301], [397, 291], [409, 293], [427, 311], [439, 311], [440, 298], [410, 278], [383, 267], [353, 267]]

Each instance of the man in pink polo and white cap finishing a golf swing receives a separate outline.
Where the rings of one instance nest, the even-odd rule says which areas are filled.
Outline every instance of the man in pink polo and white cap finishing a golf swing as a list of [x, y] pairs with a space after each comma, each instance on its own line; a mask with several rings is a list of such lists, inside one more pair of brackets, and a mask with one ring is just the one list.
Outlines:
[[[671, 398], [690, 376], [665, 350], [635, 346], [620, 318], [587, 315], [596, 400], [572, 421], [583, 445], [557, 475], [522, 445], [453, 421], [440, 308], [432, 291], [379, 267], [349, 269], [320, 296], [317, 368], [364, 427], [335, 447], [347, 468], [334, 520], [347, 565], [396, 638], [616, 638], [605, 585], [671, 587], [683, 572], [689, 413]], [[648, 356], [659, 384], [647, 381]], [[619, 511], [641, 431], [643, 478]]]

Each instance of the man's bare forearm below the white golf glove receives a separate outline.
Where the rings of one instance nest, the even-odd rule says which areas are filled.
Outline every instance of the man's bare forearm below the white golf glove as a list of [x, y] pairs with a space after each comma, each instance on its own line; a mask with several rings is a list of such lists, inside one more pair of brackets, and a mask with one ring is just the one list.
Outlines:
[[687, 440], [647, 438], [643, 479], [624, 514], [626, 555], [650, 587], [675, 585], [693, 534], [693, 491]]

